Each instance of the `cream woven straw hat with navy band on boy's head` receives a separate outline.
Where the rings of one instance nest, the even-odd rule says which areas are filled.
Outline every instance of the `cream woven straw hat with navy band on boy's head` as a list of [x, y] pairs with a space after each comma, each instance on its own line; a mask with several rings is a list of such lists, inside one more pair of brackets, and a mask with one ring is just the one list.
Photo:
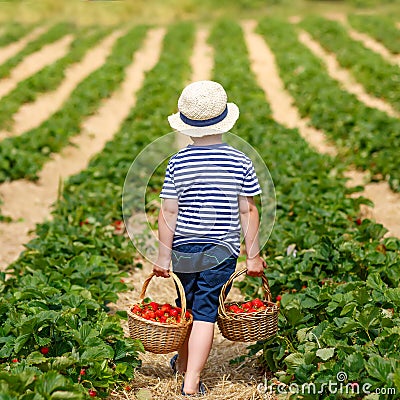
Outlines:
[[171, 127], [184, 135], [200, 137], [228, 132], [239, 118], [239, 108], [227, 103], [217, 82], [193, 82], [183, 89], [176, 114], [168, 117]]

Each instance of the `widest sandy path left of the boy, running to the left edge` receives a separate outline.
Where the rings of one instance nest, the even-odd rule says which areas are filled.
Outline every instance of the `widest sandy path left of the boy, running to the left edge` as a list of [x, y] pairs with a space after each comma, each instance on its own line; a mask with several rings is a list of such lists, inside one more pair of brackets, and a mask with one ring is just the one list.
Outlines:
[[[145, 71], [158, 60], [163, 35], [162, 29], [149, 31], [144, 46], [136, 52], [133, 63], [126, 69], [126, 79], [121, 88], [83, 123], [81, 134], [71, 140], [73, 145], [55, 154], [45, 165], [37, 183], [19, 180], [0, 186], [0, 196], [4, 201], [2, 212], [17, 221], [0, 223], [0, 268], [18, 257], [24, 249], [23, 244], [31, 239], [29, 231], [35, 224], [50, 217], [60, 179], [85, 168], [90, 158], [101, 151], [117, 132], [135, 104], [135, 93], [143, 82]], [[18, 222], [19, 219], [22, 221]]]

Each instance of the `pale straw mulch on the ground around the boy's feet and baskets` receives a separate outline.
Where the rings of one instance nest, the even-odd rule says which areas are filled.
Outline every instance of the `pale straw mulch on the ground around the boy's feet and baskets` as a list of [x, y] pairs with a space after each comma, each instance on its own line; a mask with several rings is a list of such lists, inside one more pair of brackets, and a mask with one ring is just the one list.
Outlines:
[[[125, 281], [134, 290], [122, 293], [112, 309], [126, 310], [138, 299], [143, 281], [151, 273], [151, 265], [143, 263], [143, 269], [135, 269]], [[243, 264], [238, 265], [243, 268]], [[240, 278], [239, 278], [240, 279]], [[176, 293], [172, 279], [153, 278], [146, 293], [157, 302], [174, 303]], [[240, 300], [238, 289], [233, 288], [229, 299]], [[127, 322], [124, 323], [126, 335], [129, 335]], [[202, 374], [202, 380], [208, 389], [202, 399], [219, 400], [276, 400], [277, 397], [260, 393], [257, 385], [264, 382], [265, 375], [257, 366], [256, 360], [247, 360], [231, 365], [229, 361], [245, 354], [246, 343], [234, 343], [224, 339], [216, 326], [214, 344], [210, 357]], [[174, 375], [169, 367], [171, 354], [145, 353], [140, 356], [142, 367], [135, 373], [130, 391], [120, 390], [111, 393], [109, 400], [174, 400], [184, 399], [180, 394], [182, 375]]]

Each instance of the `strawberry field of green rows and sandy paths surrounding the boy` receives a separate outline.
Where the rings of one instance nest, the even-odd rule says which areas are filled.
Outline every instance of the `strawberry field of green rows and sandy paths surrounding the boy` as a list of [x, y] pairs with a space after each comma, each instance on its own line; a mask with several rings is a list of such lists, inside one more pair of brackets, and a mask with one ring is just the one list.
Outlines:
[[[181, 398], [165, 360], [150, 359], [160, 371], [160, 377], [151, 375], [142, 343], [126, 329], [128, 305], [136, 303], [151, 265], [125, 231], [121, 197], [135, 157], [170, 132], [167, 116], [181, 90], [200, 79], [224, 86], [240, 108], [232, 133], [260, 154], [271, 173], [276, 220], [262, 252], [273, 301], [280, 303], [278, 334], [226, 356], [232, 378], [206, 377], [206, 398], [400, 398], [400, 15], [334, 17], [252, 16], [277, 77], [267, 65], [260, 77], [245, 22], [237, 18], [162, 26], [3, 24], [0, 91], [13, 86], [0, 98], [0, 399]], [[354, 39], [351, 30], [387, 53]], [[304, 33], [335, 57], [336, 68], [362, 87], [361, 95], [332, 76], [326, 60], [301, 39]], [[67, 35], [64, 55], [31, 74], [29, 63], [25, 75], [15, 72], [27, 57], [40, 51], [46, 57], [46, 46]], [[35, 106], [70, 79], [89, 51], [102, 48], [104, 62], [82, 75], [55, 112]], [[150, 55], [154, 62], [146, 63]], [[276, 97], [261, 78], [270, 80]], [[121, 93], [129, 80], [127, 107]], [[279, 91], [291, 103], [277, 104]], [[389, 111], [372, 107], [366, 96]], [[33, 120], [41, 117], [19, 132], [17, 116], [27, 106], [36, 110]], [[126, 115], [118, 113], [122, 107]], [[296, 109], [298, 119], [276, 118], [277, 107]], [[91, 118], [103, 119], [89, 125]], [[117, 129], [108, 128], [113, 119]], [[100, 151], [91, 151], [102, 135], [95, 126], [110, 131]], [[305, 126], [335, 152], [319, 151]], [[85, 135], [89, 144], [74, 158]], [[178, 150], [179, 142], [173, 146]], [[65, 166], [76, 163], [78, 172], [68, 172]], [[349, 171], [362, 174], [363, 182], [352, 184]], [[146, 194], [150, 220], [162, 181], [158, 169]], [[374, 198], [365, 196], [367, 189]], [[263, 296], [260, 278], [235, 286], [249, 309], [263, 307], [255, 300]], [[122, 296], [128, 300], [121, 302]], [[169, 296], [172, 301], [174, 293]], [[148, 319], [159, 310], [151, 304]], [[231, 345], [217, 340], [218, 354], [223, 358]], [[240, 368], [248, 372], [239, 389]], [[329, 382], [347, 389], [333, 392]], [[289, 390], [310, 383], [315, 392]], [[279, 392], [278, 384], [285, 390]], [[275, 390], [267, 393], [267, 385]]]

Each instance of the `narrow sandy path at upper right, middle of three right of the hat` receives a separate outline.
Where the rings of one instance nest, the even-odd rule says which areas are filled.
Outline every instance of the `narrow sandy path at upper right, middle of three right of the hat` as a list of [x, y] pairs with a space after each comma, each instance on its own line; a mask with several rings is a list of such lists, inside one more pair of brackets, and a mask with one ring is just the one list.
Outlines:
[[299, 33], [299, 40], [324, 62], [328, 70], [328, 74], [333, 79], [337, 80], [346, 91], [354, 94], [357, 99], [366, 106], [381, 110], [391, 117], [400, 118], [400, 114], [388, 103], [377, 97], [369, 95], [365, 91], [364, 87], [356, 82], [351, 73], [339, 65], [336, 56], [333, 53], [327, 52], [317, 41], [311, 37], [308, 32], [301, 30]]

